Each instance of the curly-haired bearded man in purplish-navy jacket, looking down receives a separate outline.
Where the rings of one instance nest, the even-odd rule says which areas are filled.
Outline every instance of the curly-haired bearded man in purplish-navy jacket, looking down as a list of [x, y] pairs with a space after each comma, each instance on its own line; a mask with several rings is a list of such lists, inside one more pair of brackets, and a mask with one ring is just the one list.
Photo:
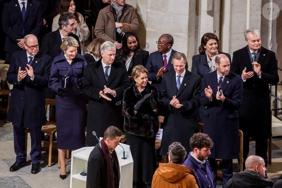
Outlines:
[[213, 142], [208, 134], [198, 132], [190, 138], [192, 151], [188, 154], [183, 165], [194, 170], [199, 188], [213, 188], [213, 174], [207, 160], [211, 154], [212, 146]]

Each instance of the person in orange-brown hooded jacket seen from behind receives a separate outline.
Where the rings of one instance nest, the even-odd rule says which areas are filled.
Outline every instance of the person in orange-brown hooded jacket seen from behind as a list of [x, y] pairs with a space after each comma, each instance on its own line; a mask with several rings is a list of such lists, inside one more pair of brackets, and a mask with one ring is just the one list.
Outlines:
[[181, 165], [187, 152], [180, 142], [168, 147], [168, 163], [159, 163], [152, 188], [198, 188], [192, 169]]

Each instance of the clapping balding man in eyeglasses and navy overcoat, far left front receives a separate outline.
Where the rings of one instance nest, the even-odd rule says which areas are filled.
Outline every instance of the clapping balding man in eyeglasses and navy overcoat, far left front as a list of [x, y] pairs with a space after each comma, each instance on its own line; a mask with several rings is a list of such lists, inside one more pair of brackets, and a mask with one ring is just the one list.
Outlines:
[[13, 123], [14, 149], [16, 162], [10, 171], [25, 166], [25, 129], [31, 135], [31, 173], [40, 171], [41, 162], [41, 126], [45, 123], [45, 97], [43, 88], [48, 86], [52, 59], [40, 54], [35, 35], [24, 37], [24, 51], [12, 54], [7, 81], [14, 85], [7, 114], [7, 120]]

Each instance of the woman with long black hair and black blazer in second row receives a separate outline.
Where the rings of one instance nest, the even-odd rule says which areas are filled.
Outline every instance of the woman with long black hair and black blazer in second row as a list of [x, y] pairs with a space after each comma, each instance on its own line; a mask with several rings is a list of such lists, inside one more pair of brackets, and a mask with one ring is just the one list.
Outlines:
[[139, 40], [135, 33], [126, 33], [122, 40], [123, 47], [117, 50], [115, 61], [124, 63], [130, 79], [132, 68], [136, 65], [145, 66], [149, 52], [140, 49]]

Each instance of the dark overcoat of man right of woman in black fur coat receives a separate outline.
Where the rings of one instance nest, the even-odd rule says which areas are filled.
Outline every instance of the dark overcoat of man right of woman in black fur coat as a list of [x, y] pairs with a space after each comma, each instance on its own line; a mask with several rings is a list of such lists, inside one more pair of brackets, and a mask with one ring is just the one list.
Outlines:
[[[161, 140], [160, 154], [166, 155], [168, 146], [178, 141], [190, 151], [189, 139], [198, 127], [196, 109], [200, 106], [201, 77], [186, 70], [179, 90], [176, 88], [176, 73], [171, 71], [163, 75], [161, 83], [161, 96], [166, 110], [169, 111], [165, 118], [163, 137]], [[169, 103], [173, 96], [183, 106], [176, 109]]]

